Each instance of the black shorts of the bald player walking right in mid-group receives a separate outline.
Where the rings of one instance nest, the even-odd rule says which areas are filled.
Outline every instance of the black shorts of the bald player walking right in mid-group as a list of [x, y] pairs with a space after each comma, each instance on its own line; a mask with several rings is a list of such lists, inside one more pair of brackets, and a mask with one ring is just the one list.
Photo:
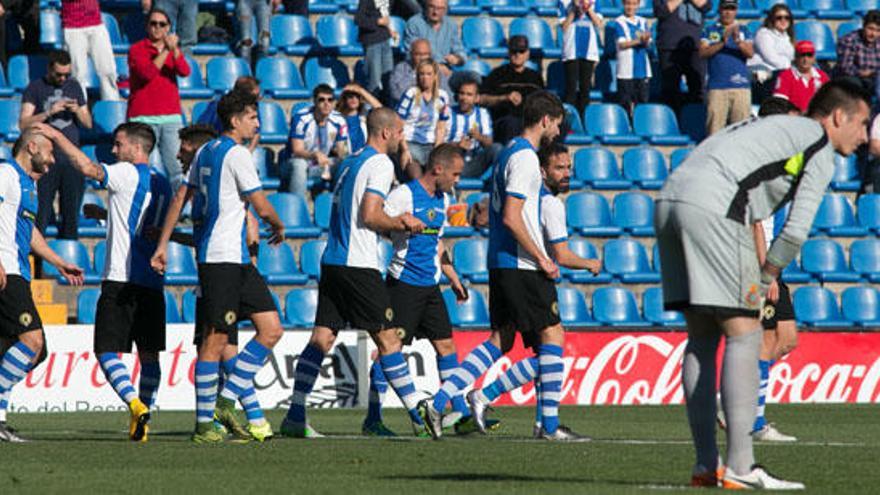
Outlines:
[[394, 310], [382, 275], [371, 268], [321, 265], [316, 327], [378, 332], [391, 326]]

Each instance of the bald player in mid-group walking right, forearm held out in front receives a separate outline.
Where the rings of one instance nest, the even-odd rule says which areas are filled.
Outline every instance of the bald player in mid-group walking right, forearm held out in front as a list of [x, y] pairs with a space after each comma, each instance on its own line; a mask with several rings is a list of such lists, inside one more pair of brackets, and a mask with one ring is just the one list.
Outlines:
[[315, 385], [324, 355], [340, 329], [351, 325], [370, 333], [379, 363], [410, 418], [421, 424], [416, 389], [400, 349], [394, 310], [379, 271], [379, 232], [419, 233], [425, 224], [411, 213], [389, 216], [385, 198], [394, 180], [388, 154], [403, 141], [403, 121], [394, 110], [377, 108], [367, 116], [367, 146], [339, 164], [327, 247], [321, 258], [318, 309], [309, 343], [296, 363], [293, 397], [281, 434], [321, 436], [306, 422], [306, 398]]

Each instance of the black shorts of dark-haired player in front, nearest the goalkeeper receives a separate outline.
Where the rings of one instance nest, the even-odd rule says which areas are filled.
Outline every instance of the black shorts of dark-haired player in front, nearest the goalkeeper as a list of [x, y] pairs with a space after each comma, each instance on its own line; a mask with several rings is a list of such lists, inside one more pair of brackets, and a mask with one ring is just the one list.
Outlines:
[[537, 270], [489, 270], [489, 319], [494, 330], [513, 328], [534, 347], [541, 330], [561, 321], [553, 280]]

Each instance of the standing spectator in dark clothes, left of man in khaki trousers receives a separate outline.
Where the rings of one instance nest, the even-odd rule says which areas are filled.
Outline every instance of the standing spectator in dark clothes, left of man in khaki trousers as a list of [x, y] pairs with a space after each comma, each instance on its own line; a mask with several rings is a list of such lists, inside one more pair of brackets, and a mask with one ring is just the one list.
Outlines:
[[[699, 39], [710, 0], [653, 0], [657, 17], [657, 54], [663, 78], [663, 98], [678, 111], [685, 103], [703, 101], [706, 62], [699, 54]], [[688, 94], [681, 94], [681, 76]]]

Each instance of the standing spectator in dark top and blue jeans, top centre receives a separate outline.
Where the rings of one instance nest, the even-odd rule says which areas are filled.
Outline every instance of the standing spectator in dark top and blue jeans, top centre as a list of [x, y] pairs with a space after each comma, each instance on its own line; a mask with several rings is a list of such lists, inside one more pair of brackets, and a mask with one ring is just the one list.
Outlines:
[[393, 0], [360, 0], [354, 22], [358, 26], [358, 42], [364, 47], [367, 69], [367, 91], [379, 94], [388, 90], [388, 77], [394, 68], [394, 54], [389, 40], [400, 33], [391, 27]]

